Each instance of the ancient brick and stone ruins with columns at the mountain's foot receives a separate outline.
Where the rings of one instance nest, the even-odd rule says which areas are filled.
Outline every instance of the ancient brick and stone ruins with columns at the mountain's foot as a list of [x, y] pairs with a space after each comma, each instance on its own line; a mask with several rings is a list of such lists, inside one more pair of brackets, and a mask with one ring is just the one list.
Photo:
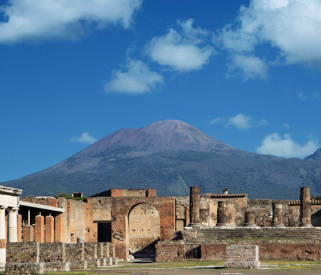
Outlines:
[[[68, 199], [21, 193], [0, 187], [0, 266], [10, 273], [133, 259], [256, 268], [257, 255], [319, 260], [321, 254], [321, 201], [310, 197], [309, 187], [301, 187], [299, 201], [247, 199], [227, 188], [200, 194], [198, 186], [190, 187], [189, 197], [158, 197], [154, 189], [108, 189], [88, 198], [73, 193]], [[231, 249], [255, 252], [253, 261], [234, 261]]]

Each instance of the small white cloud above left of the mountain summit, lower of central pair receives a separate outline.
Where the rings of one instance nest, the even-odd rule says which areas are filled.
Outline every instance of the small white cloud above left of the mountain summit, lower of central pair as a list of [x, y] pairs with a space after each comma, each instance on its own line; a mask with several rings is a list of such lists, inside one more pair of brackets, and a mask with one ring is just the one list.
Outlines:
[[149, 70], [141, 60], [129, 59], [127, 71], [115, 70], [111, 80], [105, 84], [106, 92], [143, 94], [163, 83], [163, 77]]

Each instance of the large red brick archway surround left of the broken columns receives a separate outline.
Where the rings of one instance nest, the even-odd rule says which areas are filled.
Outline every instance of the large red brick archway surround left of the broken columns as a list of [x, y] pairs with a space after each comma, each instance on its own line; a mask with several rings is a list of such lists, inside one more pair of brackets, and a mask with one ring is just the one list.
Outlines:
[[[138, 204], [148, 203], [160, 216], [160, 240], [175, 237], [175, 197], [115, 197], [111, 203], [112, 242], [116, 257], [129, 259], [128, 214]], [[115, 238], [115, 234], [117, 233]]]

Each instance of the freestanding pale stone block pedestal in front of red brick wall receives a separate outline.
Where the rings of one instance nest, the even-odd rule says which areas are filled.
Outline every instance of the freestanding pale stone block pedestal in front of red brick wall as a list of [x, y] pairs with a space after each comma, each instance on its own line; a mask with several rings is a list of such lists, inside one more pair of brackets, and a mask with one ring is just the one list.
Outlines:
[[260, 267], [258, 245], [227, 245], [225, 257], [225, 267]]

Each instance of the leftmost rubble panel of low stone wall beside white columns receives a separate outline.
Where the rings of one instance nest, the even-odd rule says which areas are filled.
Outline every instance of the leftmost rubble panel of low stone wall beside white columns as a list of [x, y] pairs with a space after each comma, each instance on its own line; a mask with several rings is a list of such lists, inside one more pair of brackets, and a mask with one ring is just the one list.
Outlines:
[[39, 262], [39, 242], [7, 243], [7, 263]]

